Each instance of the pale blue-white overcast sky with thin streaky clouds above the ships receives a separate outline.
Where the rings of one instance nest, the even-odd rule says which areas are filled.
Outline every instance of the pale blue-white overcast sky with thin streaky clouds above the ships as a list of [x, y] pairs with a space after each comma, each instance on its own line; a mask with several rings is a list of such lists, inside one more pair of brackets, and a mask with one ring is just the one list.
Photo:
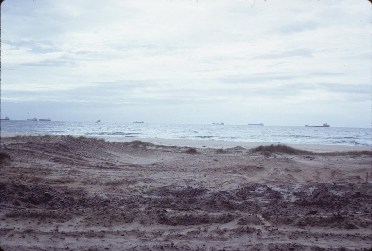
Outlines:
[[5, 0], [1, 117], [371, 127], [367, 0]]

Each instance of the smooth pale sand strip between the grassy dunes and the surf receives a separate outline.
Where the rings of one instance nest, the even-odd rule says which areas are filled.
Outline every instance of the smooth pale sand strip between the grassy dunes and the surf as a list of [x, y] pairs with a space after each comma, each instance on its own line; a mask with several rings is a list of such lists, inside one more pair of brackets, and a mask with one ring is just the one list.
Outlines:
[[[25, 134], [15, 132], [1, 132], [1, 137], [9, 138], [17, 135], [23, 136], [38, 136], [45, 134]], [[52, 134], [61, 136], [59, 134]], [[300, 150], [313, 151], [317, 153], [322, 152], [343, 152], [343, 151], [371, 151], [370, 146], [357, 146], [357, 145], [320, 145], [320, 144], [295, 144], [295, 143], [270, 143], [270, 142], [243, 142], [243, 141], [222, 141], [222, 140], [199, 140], [199, 139], [165, 139], [165, 138], [139, 138], [139, 137], [112, 137], [112, 136], [87, 136], [87, 135], [71, 135], [73, 137], [84, 136], [87, 138], [103, 138], [109, 142], [130, 142], [135, 140], [150, 142], [156, 145], [175, 145], [179, 147], [196, 147], [196, 148], [231, 148], [231, 147], [244, 147], [253, 148], [260, 145], [271, 144], [285, 144]]]

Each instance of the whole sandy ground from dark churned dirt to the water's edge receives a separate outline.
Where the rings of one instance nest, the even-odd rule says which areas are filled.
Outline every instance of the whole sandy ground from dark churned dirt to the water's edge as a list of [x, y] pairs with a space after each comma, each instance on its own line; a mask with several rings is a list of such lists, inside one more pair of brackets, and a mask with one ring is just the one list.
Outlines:
[[1, 133], [3, 250], [372, 247], [371, 147], [100, 138]]

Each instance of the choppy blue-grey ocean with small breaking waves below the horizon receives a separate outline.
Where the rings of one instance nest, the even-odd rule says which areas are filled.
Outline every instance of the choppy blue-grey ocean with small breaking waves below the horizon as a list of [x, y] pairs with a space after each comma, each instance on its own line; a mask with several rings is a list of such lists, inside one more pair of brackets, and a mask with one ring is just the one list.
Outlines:
[[371, 128], [1, 120], [1, 132], [372, 146]]

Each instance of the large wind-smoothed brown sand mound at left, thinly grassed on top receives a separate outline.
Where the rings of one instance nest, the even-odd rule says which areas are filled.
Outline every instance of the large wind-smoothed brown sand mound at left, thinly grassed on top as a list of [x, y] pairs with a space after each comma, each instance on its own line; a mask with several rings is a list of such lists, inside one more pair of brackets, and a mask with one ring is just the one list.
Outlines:
[[[15, 141], [17, 139], [17, 141]], [[154, 151], [154, 150], [153, 150]], [[96, 167], [116, 169], [120, 160], [123, 163], [153, 163], [157, 158], [153, 151], [135, 149], [125, 143], [110, 143], [91, 138], [73, 137], [13, 137], [4, 139], [3, 154], [22, 162], [38, 163], [47, 159], [51, 164], [60, 166]], [[141, 156], [138, 156], [140, 153]], [[6, 161], [3, 164], [11, 164]]]

